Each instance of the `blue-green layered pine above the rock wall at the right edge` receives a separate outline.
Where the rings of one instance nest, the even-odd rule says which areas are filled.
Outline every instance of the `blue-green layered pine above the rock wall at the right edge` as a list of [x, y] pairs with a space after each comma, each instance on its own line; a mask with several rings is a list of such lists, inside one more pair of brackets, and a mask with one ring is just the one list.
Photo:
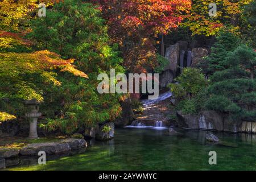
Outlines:
[[220, 62], [222, 69], [210, 77], [208, 109], [221, 111], [233, 117], [256, 119], [256, 52], [247, 46], [238, 46]]

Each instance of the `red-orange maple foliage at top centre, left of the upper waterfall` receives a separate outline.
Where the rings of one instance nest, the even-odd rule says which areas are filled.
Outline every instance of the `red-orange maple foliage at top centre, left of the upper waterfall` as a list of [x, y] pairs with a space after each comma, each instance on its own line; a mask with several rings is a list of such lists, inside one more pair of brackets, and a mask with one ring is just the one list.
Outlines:
[[100, 5], [113, 43], [121, 46], [130, 72], [147, 72], [157, 65], [155, 38], [176, 28], [191, 0], [92, 0]]

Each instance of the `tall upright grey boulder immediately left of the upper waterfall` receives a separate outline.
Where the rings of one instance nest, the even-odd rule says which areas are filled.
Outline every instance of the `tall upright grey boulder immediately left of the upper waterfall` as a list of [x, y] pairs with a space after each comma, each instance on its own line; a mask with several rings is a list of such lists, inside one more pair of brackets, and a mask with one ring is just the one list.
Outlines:
[[170, 69], [176, 76], [177, 68], [179, 66], [179, 56], [180, 56], [180, 47], [179, 43], [171, 45], [166, 49], [166, 59], [168, 59], [169, 64], [165, 70]]

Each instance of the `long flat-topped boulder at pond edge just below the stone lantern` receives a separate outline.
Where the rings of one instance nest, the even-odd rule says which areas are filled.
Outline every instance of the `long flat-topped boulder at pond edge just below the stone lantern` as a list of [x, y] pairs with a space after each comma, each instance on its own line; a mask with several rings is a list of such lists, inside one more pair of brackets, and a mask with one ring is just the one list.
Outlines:
[[19, 154], [26, 156], [38, 155], [39, 151], [46, 152], [47, 155], [61, 154], [69, 152], [72, 149], [86, 147], [87, 143], [84, 139], [63, 139], [60, 142], [33, 143], [23, 147]]

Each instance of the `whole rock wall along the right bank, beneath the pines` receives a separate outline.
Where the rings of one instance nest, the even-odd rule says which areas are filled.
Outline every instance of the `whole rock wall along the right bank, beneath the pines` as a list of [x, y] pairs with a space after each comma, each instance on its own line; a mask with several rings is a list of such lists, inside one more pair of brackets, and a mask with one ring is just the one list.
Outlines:
[[216, 111], [200, 111], [198, 115], [183, 114], [177, 111], [176, 114], [179, 127], [232, 133], [256, 133], [256, 122], [234, 122]]

